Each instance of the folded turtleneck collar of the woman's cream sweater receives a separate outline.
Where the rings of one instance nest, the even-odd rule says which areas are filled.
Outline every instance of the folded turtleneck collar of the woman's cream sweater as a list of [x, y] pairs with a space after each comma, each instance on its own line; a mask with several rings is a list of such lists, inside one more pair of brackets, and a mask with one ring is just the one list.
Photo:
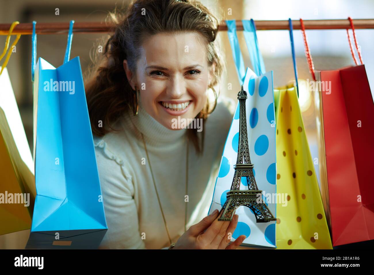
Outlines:
[[[170, 130], [155, 120], [139, 103], [139, 110], [137, 116], [129, 112], [130, 120], [135, 127], [140, 131], [147, 142], [153, 144], [169, 144], [178, 140], [184, 140], [183, 136], [187, 133], [187, 129]], [[135, 133], [140, 135], [140, 133]]]

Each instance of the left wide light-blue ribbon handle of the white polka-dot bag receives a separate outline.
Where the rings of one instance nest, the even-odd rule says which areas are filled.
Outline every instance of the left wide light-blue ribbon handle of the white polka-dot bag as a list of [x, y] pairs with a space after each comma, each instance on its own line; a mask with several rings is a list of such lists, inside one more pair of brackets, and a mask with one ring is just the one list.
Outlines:
[[240, 51], [239, 41], [236, 35], [236, 22], [235, 20], [226, 20], [227, 24], [227, 34], [229, 36], [229, 41], [231, 49], [233, 52], [233, 58], [236, 67], [236, 73], [239, 78], [240, 85], [244, 82], [245, 77], [245, 66], [242, 52]]

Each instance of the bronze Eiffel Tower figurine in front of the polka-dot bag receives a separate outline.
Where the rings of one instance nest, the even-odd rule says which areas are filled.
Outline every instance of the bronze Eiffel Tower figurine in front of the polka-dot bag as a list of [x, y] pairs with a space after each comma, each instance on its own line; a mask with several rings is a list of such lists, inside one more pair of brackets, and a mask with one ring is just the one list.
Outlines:
[[[242, 90], [237, 94], [240, 106], [240, 117], [239, 117], [239, 144], [237, 149], [236, 165], [234, 165], [235, 173], [231, 189], [227, 192], [226, 202], [223, 205], [222, 216], [218, 219], [219, 221], [231, 221], [235, 210], [244, 205], [251, 209], [256, 217], [257, 223], [267, 223], [269, 221], [275, 221], [276, 218], [270, 212], [267, 205], [263, 202], [258, 203], [258, 195], [261, 194], [262, 190], [258, 190], [256, 180], [253, 174], [253, 164], [249, 158], [248, 149], [248, 134], [247, 134], [247, 119], [245, 111], [245, 101], [247, 99], [246, 91]], [[243, 163], [244, 158], [244, 163]], [[240, 190], [240, 180], [242, 177], [247, 178], [248, 190]], [[220, 211], [220, 212], [221, 212]]]

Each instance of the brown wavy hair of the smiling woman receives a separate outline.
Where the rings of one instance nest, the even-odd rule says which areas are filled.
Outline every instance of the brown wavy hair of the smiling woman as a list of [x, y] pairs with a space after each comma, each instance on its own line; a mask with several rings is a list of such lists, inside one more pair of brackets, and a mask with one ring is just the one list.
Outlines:
[[[92, 66], [86, 72], [85, 89], [92, 133], [101, 137], [115, 131], [113, 124], [125, 111], [134, 110], [135, 93], [123, 68], [127, 59], [131, 71], [136, 70], [140, 58], [140, 47], [147, 37], [158, 33], [195, 32], [206, 41], [206, 50], [212, 81], [208, 88], [215, 94], [212, 108], [207, 100], [197, 119], [204, 122], [217, 105], [214, 86], [219, 83], [224, 68], [222, 53], [217, 41], [219, 19], [203, 4], [193, 0], [136, 0], [127, 7], [114, 10], [108, 18], [114, 23], [114, 34], [105, 43], [104, 51], [98, 55], [93, 48]], [[132, 115], [132, 114], [131, 114]], [[99, 127], [98, 121], [102, 121]], [[204, 146], [204, 131], [199, 141], [197, 129], [187, 129], [187, 135], [198, 153]]]

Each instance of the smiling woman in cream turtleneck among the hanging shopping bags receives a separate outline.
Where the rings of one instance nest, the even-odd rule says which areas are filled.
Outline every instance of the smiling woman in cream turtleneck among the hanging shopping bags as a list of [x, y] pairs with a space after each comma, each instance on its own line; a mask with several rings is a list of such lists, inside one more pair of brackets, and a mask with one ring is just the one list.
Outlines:
[[217, 16], [196, 1], [137, 0], [111, 18], [85, 85], [108, 223], [100, 248], [235, 249], [237, 215], [205, 217], [235, 109], [214, 91]]

